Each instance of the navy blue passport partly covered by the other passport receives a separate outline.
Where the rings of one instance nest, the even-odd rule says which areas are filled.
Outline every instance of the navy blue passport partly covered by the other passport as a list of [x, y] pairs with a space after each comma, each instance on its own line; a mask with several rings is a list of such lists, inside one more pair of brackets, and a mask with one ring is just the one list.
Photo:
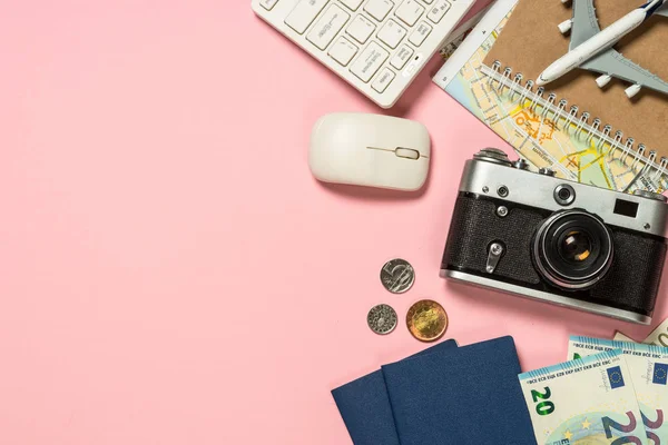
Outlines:
[[[446, 340], [405, 359], [452, 348], [456, 348], [456, 343]], [[400, 445], [380, 369], [332, 389], [332, 395], [355, 445]]]

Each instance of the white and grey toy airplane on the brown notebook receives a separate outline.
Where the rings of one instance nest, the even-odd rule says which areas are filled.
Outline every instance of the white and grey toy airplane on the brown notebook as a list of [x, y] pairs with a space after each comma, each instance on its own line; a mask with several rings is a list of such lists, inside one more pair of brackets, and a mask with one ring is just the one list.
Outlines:
[[[559, 23], [561, 33], [571, 31], [569, 52], [550, 65], [538, 77], [537, 85], [549, 83], [574, 68], [582, 68], [601, 73], [596, 79], [599, 88], [608, 85], [613, 77], [631, 82], [632, 85], [626, 89], [629, 99], [636, 96], [642, 87], [668, 93], [668, 82], [633, 63], [612, 48], [622, 37], [638, 28], [652, 14], [668, 17], [668, 8], [664, 8], [665, 4], [668, 4], [666, 3], [668, 0], [649, 1], [602, 31], [596, 18], [593, 0], [572, 1], [572, 19]], [[566, 3], [568, 0], [561, 0], [561, 2]]]

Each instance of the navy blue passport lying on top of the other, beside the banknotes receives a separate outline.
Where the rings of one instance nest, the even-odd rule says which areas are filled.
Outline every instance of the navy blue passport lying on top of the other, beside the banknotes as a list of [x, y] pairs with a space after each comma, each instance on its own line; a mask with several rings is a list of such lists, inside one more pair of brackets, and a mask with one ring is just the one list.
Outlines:
[[512, 337], [382, 367], [401, 445], [536, 445]]

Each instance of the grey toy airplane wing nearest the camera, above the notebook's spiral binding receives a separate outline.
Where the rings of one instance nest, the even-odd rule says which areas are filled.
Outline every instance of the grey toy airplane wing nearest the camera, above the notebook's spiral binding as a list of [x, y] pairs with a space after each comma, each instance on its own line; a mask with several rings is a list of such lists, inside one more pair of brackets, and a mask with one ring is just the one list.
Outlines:
[[639, 85], [662, 93], [668, 93], [668, 82], [657, 75], [646, 70], [637, 63], [633, 63], [615, 49], [589, 59], [580, 68], [608, 75], [627, 82]]

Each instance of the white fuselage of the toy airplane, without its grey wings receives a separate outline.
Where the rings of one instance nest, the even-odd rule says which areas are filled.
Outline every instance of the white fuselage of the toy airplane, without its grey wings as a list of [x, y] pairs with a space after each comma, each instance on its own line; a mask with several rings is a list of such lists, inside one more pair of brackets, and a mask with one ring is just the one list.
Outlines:
[[[574, 0], [577, 1], [577, 0]], [[664, 4], [666, 0], [654, 0], [644, 4], [642, 7], [632, 10], [608, 28], [601, 30], [599, 33], [583, 41], [571, 51], [567, 52], [563, 57], [557, 59], [550, 65], [541, 75], [538, 77], [536, 83], [543, 86], [551, 81], [554, 81], [563, 75], [578, 68], [587, 60], [601, 53], [602, 51], [615, 46], [626, 34], [638, 28], [645, 20], [647, 20], [654, 11]]]

